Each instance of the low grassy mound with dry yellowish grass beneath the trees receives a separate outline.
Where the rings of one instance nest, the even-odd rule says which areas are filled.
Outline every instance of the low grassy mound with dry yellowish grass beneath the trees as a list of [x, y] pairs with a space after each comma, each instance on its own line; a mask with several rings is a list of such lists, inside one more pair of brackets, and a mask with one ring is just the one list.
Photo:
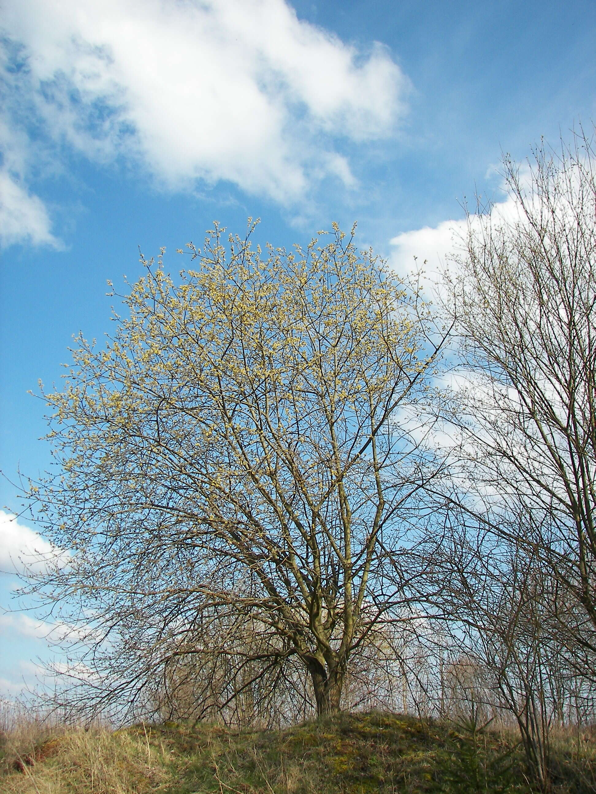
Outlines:
[[[570, 742], [561, 792], [596, 790]], [[2, 736], [6, 794], [530, 792], [513, 738], [400, 715], [338, 715], [285, 730], [175, 723]], [[594, 756], [594, 751], [590, 751]], [[593, 760], [593, 759], [592, 759]]]

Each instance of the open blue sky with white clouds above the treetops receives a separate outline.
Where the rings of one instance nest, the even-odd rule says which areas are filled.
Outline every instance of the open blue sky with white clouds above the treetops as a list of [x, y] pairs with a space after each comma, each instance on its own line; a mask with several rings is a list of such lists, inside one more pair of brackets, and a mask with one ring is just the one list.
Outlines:
[[[106, 279], [200, 243], [214, 219], [305, 242], [336, 220], [407, 268], [462, 202], [596, 119], [591, 2], [3, 0], [0, 568], [43, 543], [11, 481], [48, 466], [45, 407], [72, 334], [110, 331]], [[11, 558], [13, 561], [11, 561]], [[8, 606], [12, 574], [0, 576]], [[0, 696], [47, 657], [0, 613]]]

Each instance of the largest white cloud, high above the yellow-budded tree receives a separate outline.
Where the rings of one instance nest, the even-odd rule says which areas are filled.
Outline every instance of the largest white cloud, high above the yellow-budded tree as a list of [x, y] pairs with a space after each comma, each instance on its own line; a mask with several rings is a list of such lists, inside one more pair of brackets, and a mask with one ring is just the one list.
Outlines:
[[285, 0], [2, 5], [26, 64], [10, 80], [48, 135], [170, 189], [229, 180], [291, 204], [327, 175], [350, 187], [334, 139], [389, 136], [404, 114], [408, 79], [385, 48], [358, 52]]

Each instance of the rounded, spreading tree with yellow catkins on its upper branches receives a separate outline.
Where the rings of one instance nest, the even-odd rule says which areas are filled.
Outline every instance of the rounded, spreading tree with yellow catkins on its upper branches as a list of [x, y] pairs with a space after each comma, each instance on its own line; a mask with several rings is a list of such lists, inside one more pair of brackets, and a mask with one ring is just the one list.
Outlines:
[[216, 226], [177, 285], [142, 260], [128, 318], [105, 349], [79, 338], [45, 395], [61, 473], [32, 496], [72, 555], [36, 588], [91, 626], [75, 671], [95, 703], [134, 703], [180, 657], [206, 675], [215, 651], [236, 695], [245, 663], [291, 661], [336, 711], [350, 657], [404, 616], [401, 538], [440, 467], [399, 418], [440, 345], [417, 296], [334, 229], [264, 256]]

